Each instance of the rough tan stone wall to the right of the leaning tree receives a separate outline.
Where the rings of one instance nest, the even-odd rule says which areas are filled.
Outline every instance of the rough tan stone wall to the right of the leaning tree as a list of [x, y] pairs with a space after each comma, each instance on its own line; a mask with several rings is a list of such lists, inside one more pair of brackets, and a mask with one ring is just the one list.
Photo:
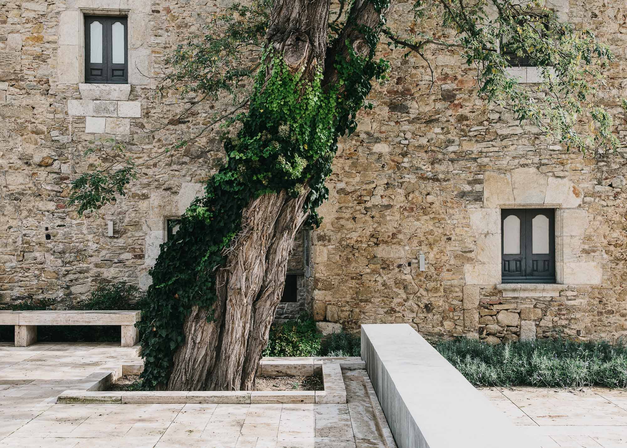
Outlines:
[[[561, 6], [617, 56], [601, 97], [624, 141], [627, 9], [618, 1]], [[396, 8], [392, 26], [409, 3]], [[627, 152], [567, 151], [514, 122], [477, 98], [475, 69], [453, 50], [428, 52], [433, 89], [420, 58], [384, 54], [392, 54], [391, 81], [374, 87], [374, 109], [340, 142], [314, 232], [314, 316], [350, 329], [409, 323], [428, 336], [492, 343], [624, 334]], [[499, 209], [507, 207], [557, 209], [558, 289], [499, 289]]]

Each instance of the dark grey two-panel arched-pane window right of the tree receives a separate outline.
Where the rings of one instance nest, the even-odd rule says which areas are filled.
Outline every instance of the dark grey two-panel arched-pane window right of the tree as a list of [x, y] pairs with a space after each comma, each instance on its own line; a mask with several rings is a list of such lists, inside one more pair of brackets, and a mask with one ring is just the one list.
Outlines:
[[501, 210], [503, 283], [555, 283], [555, 210]]

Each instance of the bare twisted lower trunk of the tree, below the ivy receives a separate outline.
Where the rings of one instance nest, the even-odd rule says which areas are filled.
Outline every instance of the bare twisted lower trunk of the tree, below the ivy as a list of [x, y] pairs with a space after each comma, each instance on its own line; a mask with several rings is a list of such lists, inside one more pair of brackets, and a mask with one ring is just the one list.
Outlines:
[[174, 357], [168, 390], [250, 390], [283, 294], [294, 237], [307, 218], [303, 202], [285, 191], [263, 195], [243, 212], [242, 230], [220, 269], [214, 319], [194, 307], [186, 341]]

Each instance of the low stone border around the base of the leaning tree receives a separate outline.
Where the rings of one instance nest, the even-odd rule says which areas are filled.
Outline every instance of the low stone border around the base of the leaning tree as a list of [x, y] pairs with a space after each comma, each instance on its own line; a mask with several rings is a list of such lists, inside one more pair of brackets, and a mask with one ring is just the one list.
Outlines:
[[112, 371], [92, 373], [83, 390], [66, 390], [57, 403], [346, 403], [342, 368], [364, 368], [359, 358], [263, 358], [260, 376], [312, 376], [322, 373], [324, 390], [270, 391], [124, 391], [108, 390], [120, 376], [139, 375], [142, 364], [127, 364]]

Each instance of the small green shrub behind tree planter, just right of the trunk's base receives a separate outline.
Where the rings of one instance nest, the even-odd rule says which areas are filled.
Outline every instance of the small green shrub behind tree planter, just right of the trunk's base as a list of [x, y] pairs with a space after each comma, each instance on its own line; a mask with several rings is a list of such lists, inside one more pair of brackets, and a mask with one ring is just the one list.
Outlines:
[[302, 315], [270, 327], [270, 338], [263, 356], [320, 356], [321, 341], [322, 336], [316, 332], [314, 319]]

